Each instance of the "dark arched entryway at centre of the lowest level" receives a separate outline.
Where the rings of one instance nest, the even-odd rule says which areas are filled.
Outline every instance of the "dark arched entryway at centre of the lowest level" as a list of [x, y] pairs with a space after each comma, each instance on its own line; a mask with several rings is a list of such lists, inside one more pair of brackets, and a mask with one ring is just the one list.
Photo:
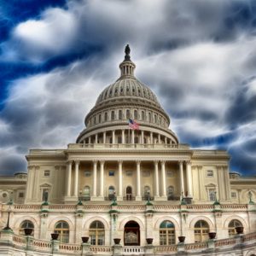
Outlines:
[[125, 246], [140, 245], [140, 226], [136, 221], [129, 221], [125, 224], [124, 231]]

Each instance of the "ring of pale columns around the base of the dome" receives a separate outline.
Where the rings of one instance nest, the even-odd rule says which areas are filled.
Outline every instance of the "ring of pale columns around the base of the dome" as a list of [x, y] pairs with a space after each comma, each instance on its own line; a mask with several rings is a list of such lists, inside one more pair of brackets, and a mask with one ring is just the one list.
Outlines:
[[[124, 144], [125, 143], [125, 130], [121, 130], [121, 131], [122, 131], [122, 143]], [[135, 130], [127, 130], [127, 131], [128, 131], [128, 137], [129, 137], [129, 140], [131, 141], [131, 144], [134, 144], [135, 143]], [[105, 144], [106, 140], [107, 140], [107, 131], [103, 131], [102, 134], [103, 134], [102, 143]], [[153, 137], [153, 135], [154, 135], [154, 132], [150, 131], [150, 143], [152, 143], [152, 144], [155, 143], [154, 139], [156, 140], [156, 137]], [[88, 138], [88, 143], [89, 144], [91, 143], [91, 138], [92, 137], [95, 137], [94, 143], [98, 143], [98, 134], [97, 133], [93, 136], [87, 137]], [[143, 130], [140, 131], [139, 137], [140, 137], [139, 143], [143, 144], [144, 143], [143, 142], [143, 138], [144, 138], [144, 131]], [[158, 143], [160, 143], [160, 137], [161, 137], [161, 135], [160, 135], [160, 133], [158, 133], [158, 137], [157, 137]], [[168, 137], [164, 138], [164, 142], [165, 142], [165, 144], [167, 144], [167, 143], [172, 144], [172, 140]], [[117, 143], [116, 142], [116, 135], [115, 135], [114, 130], [112, 131], [112, 143], [113, 144]]]

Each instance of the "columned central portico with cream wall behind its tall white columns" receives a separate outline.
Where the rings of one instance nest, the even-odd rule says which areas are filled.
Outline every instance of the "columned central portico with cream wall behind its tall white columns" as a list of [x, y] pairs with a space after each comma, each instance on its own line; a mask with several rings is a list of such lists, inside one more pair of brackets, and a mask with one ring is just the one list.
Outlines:
[[[154, 201], [166, 201], [170, 186], [174, 187], [176, 198], [185, 194], [192, 198], [189, 172], [191, 163], [188, 160], [69, 160], [66, 198], [77, 201], [83, 197], [86, 187], [90, 189], [90, 201], [104, 201], [112, 187], [117, 201], [132, 198], [142, 201], [148, 196]], [[131, 187], [131, 197], [126, 196], [128, 186]]]

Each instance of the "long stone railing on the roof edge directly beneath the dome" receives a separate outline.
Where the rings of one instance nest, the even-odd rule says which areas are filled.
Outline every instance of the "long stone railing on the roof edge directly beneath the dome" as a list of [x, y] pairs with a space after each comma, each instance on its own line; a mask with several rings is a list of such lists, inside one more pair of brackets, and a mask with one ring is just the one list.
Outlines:
[[140, 143], [71, 143], [67, 145], [68, 149], [76, 149], [76, 148], [181, 148], [181, 149], [189, 149], [188, 144], [140, 144]]

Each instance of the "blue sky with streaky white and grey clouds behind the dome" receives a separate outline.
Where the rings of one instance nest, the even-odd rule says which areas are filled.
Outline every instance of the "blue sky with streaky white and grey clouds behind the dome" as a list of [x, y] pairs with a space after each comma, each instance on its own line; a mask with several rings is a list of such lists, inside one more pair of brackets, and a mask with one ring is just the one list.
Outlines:
[[243, 0], [0, 0], [0, 172], [75, 142], [125, 44], [180, 142], [255, 175], [256, 3]]

